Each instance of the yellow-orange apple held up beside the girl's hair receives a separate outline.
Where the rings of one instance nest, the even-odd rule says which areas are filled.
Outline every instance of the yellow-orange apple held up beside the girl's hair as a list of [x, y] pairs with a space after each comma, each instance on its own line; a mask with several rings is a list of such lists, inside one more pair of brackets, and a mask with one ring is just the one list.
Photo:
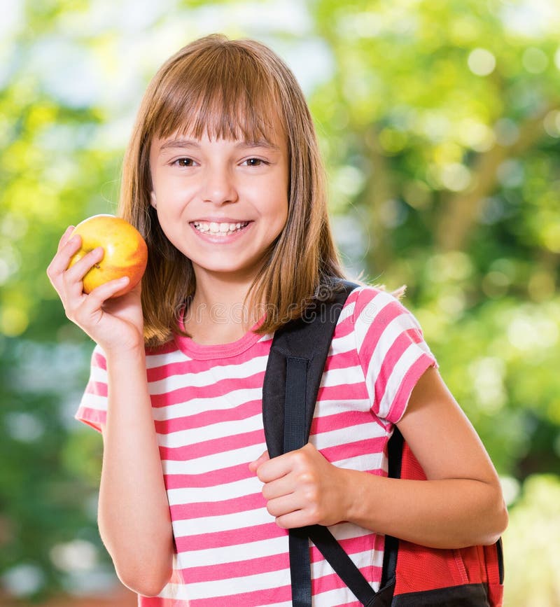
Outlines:
[[113, 297], [125, 295], [137, 286], [148, 262], [148, 247], [140, 232], [123, 218], [114, 215], [94, 215], [74, 228], [71, 236], [80, 235], [80, 250], [73, 255], [68, 267], [86, 253], [102, 246], [104, 256], [83, 277], [84, 293], [110, 280], [129, 277], [130, 281]]

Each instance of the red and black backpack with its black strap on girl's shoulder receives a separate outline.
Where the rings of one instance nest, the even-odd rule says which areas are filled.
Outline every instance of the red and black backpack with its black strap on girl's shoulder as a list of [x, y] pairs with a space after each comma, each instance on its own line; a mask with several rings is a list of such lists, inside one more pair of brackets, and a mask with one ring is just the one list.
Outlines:
[[[274, 333], [262, 389], [271, 458], [307, 443], [332, 334], [347, 296], [357, 286], [337, 281], [329, 300], [315, 300], [300, 319]], [[388, 476], [426, 480], [396, 426], [388, 441]], [[294, 607], [311, 607], [309, 540], [366, 607], [502, 605], [501, 540], [491, 546], [449, 550], [386, 536], [381, 585], [374, 592], [328, 528], [311, 525], [289, 530]]]

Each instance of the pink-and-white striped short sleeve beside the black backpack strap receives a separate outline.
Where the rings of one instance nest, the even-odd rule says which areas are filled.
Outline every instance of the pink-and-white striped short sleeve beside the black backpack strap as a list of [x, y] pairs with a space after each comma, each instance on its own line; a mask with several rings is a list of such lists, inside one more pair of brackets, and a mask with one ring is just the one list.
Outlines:
[[372, 411], [395, 424], [412, 389], [437, 362], [414, 315], [391, 293], [364, 287], [353, 313], [356, 351]]

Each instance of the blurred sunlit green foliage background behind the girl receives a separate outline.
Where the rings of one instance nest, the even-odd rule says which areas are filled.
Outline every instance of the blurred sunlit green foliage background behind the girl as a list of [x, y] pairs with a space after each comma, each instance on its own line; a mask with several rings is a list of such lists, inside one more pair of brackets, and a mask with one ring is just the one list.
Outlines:
[[95, 526], [101, 442], [72, 417], [92, 344], [69, 326], [45, 268], [66, 225], [116, 209], [148, 78], [183, 43], [223, 31], [269, 43], [295, 70], [316, 118], [346, 267], [407, 285], [405, 303], [503, 476], [507, 604], [560, 605], [558, 559], [547, 549], [560, 487], [556, 1], [6, 6], [4, 592], [41, 601], [114, 580]]

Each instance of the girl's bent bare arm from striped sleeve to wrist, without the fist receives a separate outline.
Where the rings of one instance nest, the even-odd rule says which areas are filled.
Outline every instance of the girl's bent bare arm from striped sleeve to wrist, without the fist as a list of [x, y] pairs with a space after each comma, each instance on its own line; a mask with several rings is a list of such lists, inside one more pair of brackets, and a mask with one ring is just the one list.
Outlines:
[[[431, 547], [495, 542], [507, 525], [498, 475], [437, 370], [419, 379], [398, 428], [428, 481], [358, 483], [349, 504], [353, 522]], [[391, 508], [368, 511], [372, 500]]]

